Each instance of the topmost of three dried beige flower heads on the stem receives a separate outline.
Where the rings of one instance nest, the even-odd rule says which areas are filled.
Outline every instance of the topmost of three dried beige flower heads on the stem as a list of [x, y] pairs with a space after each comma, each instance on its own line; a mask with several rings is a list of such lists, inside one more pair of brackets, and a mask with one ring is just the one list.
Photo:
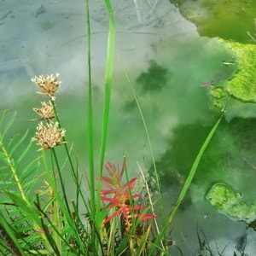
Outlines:
[[61, 81], [58, 80], [59, 73], [48, 75], [46, 78], [44, 75], [39, 75], [38, 77], [34, 77], [32, 82], [38, 84], [41, 91], [38, 93], [48, 95], [52, 101], [55, 100], [55, 92], [59, 89]]

